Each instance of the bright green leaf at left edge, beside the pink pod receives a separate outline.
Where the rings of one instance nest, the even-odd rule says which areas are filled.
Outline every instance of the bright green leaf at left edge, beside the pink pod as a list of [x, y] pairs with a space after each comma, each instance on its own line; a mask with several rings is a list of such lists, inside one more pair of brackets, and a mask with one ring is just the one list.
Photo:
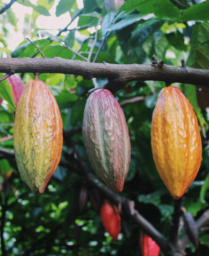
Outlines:
[[[0, 73], [0, 77], [4, 76], [3, 73]], [[10, 105], [10, 107], [15, 111], [15, 105], [14, 105], [14, 100], [13, 100], [13, 96], [12, 96], [12, 88], [11, 86], [8, 84], [7, 80], [3, 80], [2, 82], [0, 82], [1, 86], [0, 86], [0, 97], [4, 100], [6, 100], [8, 102], [8, 104]]]

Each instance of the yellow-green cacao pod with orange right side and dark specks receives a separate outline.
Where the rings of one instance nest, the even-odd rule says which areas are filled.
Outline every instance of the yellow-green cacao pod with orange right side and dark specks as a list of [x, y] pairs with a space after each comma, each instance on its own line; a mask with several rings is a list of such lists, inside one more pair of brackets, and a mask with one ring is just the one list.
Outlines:
[[14, 123], [14, 152], [20, 175], [34, 194], [43, 194], [62, 153], [62, 118], [41, 80], [26, 84]]

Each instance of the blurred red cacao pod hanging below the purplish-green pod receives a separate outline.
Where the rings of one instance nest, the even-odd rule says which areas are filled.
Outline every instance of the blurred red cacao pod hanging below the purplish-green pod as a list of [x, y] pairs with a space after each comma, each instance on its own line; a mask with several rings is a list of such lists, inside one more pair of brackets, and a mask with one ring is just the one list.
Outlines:
[[102, 223], [106, 231], [112, 237], [112, 240], [117, 241], [121, 230], [121, 219], [117, 207], [111, 204], [108, 200], [105, 200], [101, 208], [100, 216]]

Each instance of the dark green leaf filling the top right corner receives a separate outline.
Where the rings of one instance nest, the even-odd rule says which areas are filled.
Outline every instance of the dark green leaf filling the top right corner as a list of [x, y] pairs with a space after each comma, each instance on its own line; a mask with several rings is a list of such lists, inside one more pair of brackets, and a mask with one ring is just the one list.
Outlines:
[[209, 2], [194, 4], [183, 11], [181, 20], [209, 20]]

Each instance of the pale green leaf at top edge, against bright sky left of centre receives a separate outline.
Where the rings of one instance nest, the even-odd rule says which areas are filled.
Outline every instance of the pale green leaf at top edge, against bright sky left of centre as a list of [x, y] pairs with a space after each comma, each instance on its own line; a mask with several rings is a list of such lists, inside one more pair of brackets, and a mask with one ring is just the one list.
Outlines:
[[[57, 7], [56, 7], [56, 16], [59, 17], [60, 15], [70, 12], [70, 16], [78, 9], [77, 2], [74, 0], [60, 0]], [[72, 18], [72, 16], [71, 16]]]

